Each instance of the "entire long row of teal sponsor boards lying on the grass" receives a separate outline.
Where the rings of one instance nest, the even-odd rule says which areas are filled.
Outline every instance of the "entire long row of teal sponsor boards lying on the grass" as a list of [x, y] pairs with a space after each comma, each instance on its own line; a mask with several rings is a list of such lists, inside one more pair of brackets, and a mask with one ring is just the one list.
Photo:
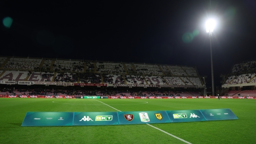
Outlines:
[[96, 126], [238, 119], [230, 109], [138, 112], [27, 112], [21, 126]]

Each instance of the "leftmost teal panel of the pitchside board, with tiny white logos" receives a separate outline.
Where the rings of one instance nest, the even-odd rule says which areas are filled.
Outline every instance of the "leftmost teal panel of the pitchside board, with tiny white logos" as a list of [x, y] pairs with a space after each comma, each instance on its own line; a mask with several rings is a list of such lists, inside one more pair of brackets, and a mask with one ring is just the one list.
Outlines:
[[72, 126], [73, 112], [27, 112], [21, 126]]

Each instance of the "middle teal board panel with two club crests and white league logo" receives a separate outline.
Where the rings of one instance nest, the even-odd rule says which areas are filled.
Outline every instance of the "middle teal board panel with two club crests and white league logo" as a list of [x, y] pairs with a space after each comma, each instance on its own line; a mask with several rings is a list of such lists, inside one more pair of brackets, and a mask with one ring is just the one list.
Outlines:
[[122, 125], [171, 122], [165, 111], [117, 112], [117, 114]]

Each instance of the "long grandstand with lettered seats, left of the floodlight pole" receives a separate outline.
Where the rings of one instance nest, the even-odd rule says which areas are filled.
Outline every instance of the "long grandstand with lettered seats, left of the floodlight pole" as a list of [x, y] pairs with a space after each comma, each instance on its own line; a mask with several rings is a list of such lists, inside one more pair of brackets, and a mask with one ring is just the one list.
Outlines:
[[[189, 87], [195, 88], [202, 86], [201, 79], [195, 67], [189, 66], [171, 66], [160, 64], [142, 64], [142, 63], [122, 63], [122, 62], [99, 62], [72, 59], [50, 59], [50, 58], [11, 58], [0, 57], [0, 80], [1, 81], [33, 81], [33, 89], [25, 89], [15, 85], [16, 94], [47, 94], [47, 95], [70, 95], [70, 94], [94, 94], [94, 95], [133, 95], [133, 96], [177, 96], [190, 95], [185, 92], [165, 91], [165, 87]], [[38, 82], [38, 83], [36, 83]], [[82, 85], [74, 83], [86, 84], [108, 84], [112, 88], [118, 90], [109, 90], [108, 92], [97, 89], [87, 90], [64, 87], [59, 89], [62, 83], [73, 83], [73, 89], [82, 88]], [[5, 82], [6, 83], [6, 82]], [[7, 83], [6, 83], [7, 84]], [[133, 84], [117, 85], [117, 84]], [[142, 85], [143, 84], [143, 85]], [[35, 88], [40, 86], [49, 86], [44, 89]], [[145, 85], [145, 86], [144, 86]], [[150, 85], [150, 86], [146, 86]], [[5, 86], [5, 85], [2, 85]], [[63, 85], [64, 86], [64, 85]], [[66, 85], [69, 86], [69, 85]], [[87, 85], [89, 86], [89, 85]], [[90, 85], [93, 86], [93, 85]], [[94, 85], [95, 86], [95, 85]], [[97, 86], [97, 85], [96, 85]], [[105, 85], [104, 85], [105, 86]], [[121, 87], [124, 86], [124, 87]], [[122, 91], [130, 87], [128, 91]], [[140, 87], [141, 86], [141, 87]], [[19, 87], [22, 87], [19, 89]], [[106, 86], [107, 87], [107, 86]], [[133, 87], [138, 88], [133, 90]], [[148, 88], [149, 87], [149, 88]], [[150, 88], [151, 87], [151, 88]], [[90, 87], [91, 88], [91, 87]], [[88, 89], [90, 89], [88, 87]], [[141, 88], [152, 89], [150, 91]], [[162, 92], [156, 91], [161, 88]], [[166, 88], [166, 89], [167, 89]], [[52, 90], [54, 89], [54, 90]], [[140, 90], [139, 90], [140, 89]], [[191, 89], [192, 90], [192, 89]], [[3, 91], [2, 91], [3, 92]], [[5, 90], [3, 94], [13, 93]]]

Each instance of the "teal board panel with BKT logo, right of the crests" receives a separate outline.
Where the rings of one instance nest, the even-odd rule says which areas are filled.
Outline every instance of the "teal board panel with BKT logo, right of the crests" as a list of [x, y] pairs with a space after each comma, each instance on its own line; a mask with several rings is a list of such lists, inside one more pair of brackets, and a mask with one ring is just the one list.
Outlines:
[[199, 110], [166, 111], [172, 122], [206, 121]]

